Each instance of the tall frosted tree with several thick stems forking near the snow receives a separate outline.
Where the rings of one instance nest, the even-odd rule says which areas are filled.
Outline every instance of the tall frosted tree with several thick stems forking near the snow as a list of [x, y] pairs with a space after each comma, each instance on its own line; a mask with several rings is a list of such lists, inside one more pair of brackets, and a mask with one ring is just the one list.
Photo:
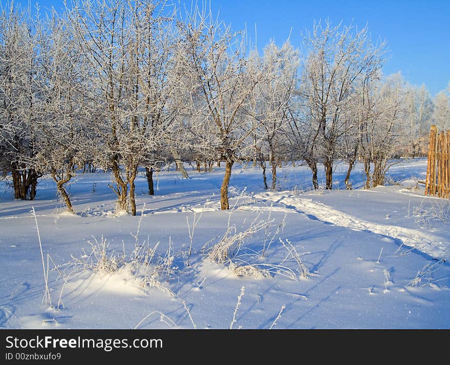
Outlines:
[[[162, 143], [172, 10], [164, 2], [83, 1], [69, 11], [91, 67], [98, 165], [111, 169], [117, 210], [136, 215], [138, 166]], [[150, 158], [151, 159], [151, 158]]]

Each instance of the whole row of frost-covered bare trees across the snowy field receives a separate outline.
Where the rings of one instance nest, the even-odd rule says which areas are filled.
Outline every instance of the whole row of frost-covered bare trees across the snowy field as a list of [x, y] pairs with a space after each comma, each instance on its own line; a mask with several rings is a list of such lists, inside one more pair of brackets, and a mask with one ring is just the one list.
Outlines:
[[431, 120], [445, 128], [447, 94], [381, 73], [383, 41], [367, 28], [318, 22], [260, 53], [206, 9], [164, 1], [81, 1], [42, 16], [8, 6], [0, 16], [0, 169], [16, 199], [34, 199], [50, 174], [68, 210], [66, 184], [86, 163], [109, 169], [117, 209], [136, 215], [134, 181], [149, 193], [161, 161], [226, 166], [221, 208], [235, 162], [266, 162], [276, 187], [280, 161], [318, 165], [333, 187], [336, 160], [346, 185], [362, 161], [366, 187], [384, 183], [395, 154], [423, 153]]

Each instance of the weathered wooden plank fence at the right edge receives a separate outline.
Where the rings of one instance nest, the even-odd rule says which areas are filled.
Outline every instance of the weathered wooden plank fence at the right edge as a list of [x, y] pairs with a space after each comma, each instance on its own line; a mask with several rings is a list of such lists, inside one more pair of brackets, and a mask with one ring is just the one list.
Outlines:
[[448, 198], [450, 194], [450, 131], [431, 126], [426, 167], [425, 195]]

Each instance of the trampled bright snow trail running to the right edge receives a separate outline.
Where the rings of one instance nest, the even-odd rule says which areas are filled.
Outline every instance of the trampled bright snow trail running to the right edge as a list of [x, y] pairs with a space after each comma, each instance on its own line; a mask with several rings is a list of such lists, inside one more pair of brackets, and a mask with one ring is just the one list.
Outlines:
[[400, 240], [403, 245], [417, 249], [435, 259], [440, 260], [448, 257], [447, 250], [449, 246], [447, 244], [439, 241], [431, 234], [423, 234], [415, 229], [358, 219], [333, 209], [326, 204], [300, 198], [292, 194], [286, 195], [278, 192], [259, 193], [253, 195], [253, 198], [283, 204], [287, 209], [303, 213], [310, 219], [317, 219], [351, 230], [368, 231], [394, 240]]

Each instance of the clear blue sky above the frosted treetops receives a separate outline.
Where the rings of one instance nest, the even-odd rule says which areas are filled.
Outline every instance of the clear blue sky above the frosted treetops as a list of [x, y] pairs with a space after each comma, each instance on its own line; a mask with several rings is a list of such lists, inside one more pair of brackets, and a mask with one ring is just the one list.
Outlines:
[[[15, 2], [28, 5], [29, 0]], [[62, 7], [56, 0], [39, 4]], [[311, 29], [314, 20], [353, 21], [359, 28], [367, 23], [373, 40], [388, 41], [385, 74], [400, 71], [410, 83], [424, 83], [432, 95], [450, 81], [450, 0], [211, 0], [211, 6], [234, 30], [246, 25], [252, 39], [256, 24], [260, 49], [271, 38], [282, 43], [291, 29], [291, 42], [300, 46], [300, 33]]]

